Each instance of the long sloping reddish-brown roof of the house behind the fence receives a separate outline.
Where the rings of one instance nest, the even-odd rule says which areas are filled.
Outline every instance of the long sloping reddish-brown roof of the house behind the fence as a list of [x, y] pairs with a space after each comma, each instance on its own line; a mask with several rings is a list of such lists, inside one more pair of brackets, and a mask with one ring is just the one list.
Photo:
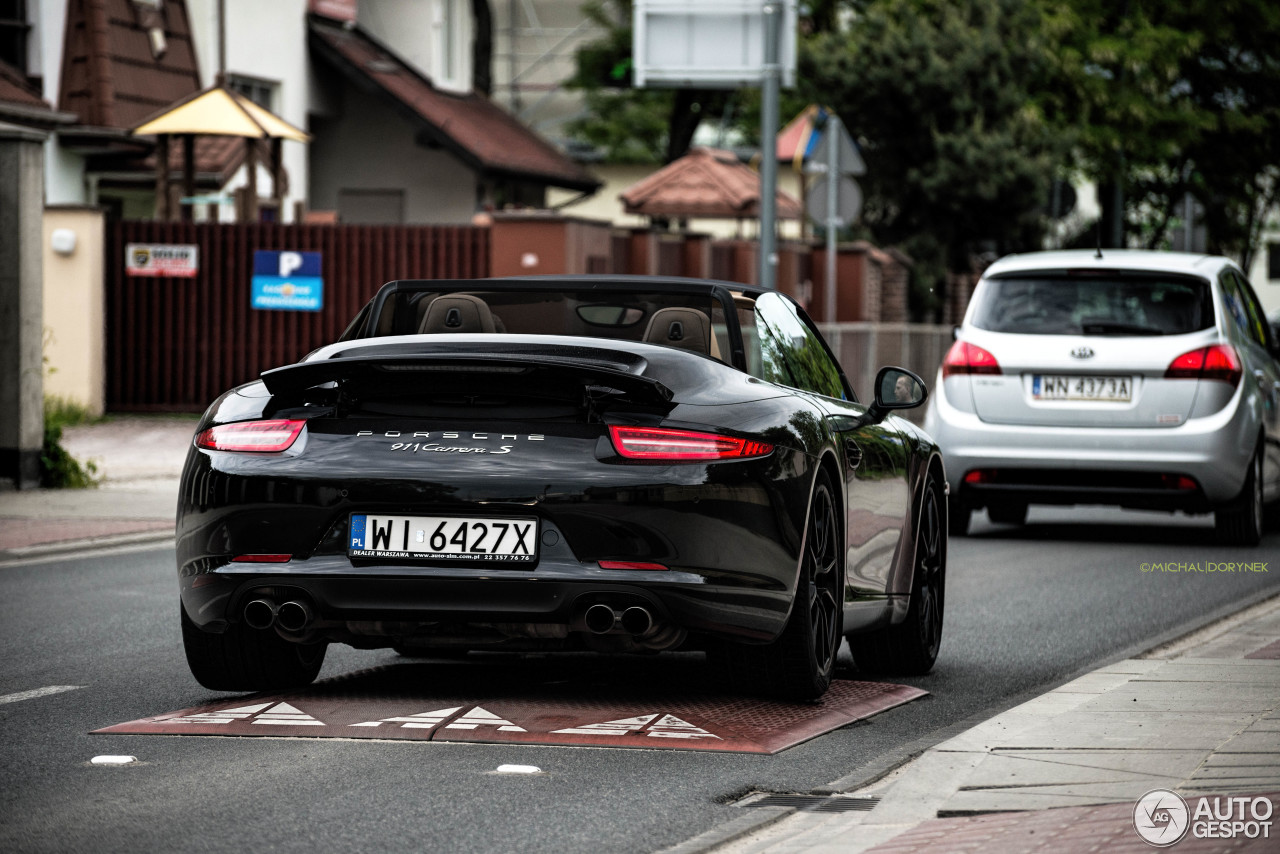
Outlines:
[[600, 182], [515, 117], [474, 92], [444, 92], [358, 26], [308, 19], [320, 59], [356, 87], [381, 92], [428, 138], [472, 169], [553, 187], [594, 192]]

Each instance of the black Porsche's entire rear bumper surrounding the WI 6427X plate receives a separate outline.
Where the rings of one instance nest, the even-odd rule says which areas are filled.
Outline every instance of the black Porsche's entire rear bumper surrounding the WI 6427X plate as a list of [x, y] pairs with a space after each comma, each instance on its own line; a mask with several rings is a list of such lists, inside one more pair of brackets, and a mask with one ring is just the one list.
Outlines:
[[[562, 466], [465, 492], [408, 479], [271, 478], [252, 458], [193, 451], [178, 512], [183, 606], [196, 626], [221, 631], [266, 592], [276, 602], [301, 598], [317, 625], [340, 634], [352, 622], [581, 630], [591, 604], [636, 604], [676, 629], [777, 636], [795, 593], [806, 457], [780, 449], [762, 460], [604, 474], [602, 485], [570, 488], [563, 479], [582, 475]], [[508, 568], [351, 558], [348, 521], [367, 512], [536, 517], [538, 560]], [[247, 554], [289, 560], [232, 560]], [[602, 560], [668, 568], [607, 570]], [[390, 626], [372, 634], [412, 632]]]

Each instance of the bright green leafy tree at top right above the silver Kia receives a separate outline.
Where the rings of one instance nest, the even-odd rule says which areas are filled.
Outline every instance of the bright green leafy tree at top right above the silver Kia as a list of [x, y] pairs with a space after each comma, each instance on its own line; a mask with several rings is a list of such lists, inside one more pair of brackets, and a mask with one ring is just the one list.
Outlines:
[[1161, 247], [1189, 192], [1204, 206], [1210, 251], [1248, 269], [1280, 183], [1280, 5], [1071, 0], [1046, 10], [1059, 81], [1046, 101], [1100, 183], [1107, 243]]

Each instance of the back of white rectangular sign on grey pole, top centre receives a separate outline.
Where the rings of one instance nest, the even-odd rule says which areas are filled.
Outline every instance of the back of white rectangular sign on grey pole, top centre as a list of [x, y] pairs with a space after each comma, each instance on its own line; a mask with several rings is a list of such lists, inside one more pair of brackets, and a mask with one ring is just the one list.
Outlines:
[[797, 0], [635, 0], [637, 88], [741, 88], [764, 78], [764, 6], [782, 9], [781, 83], [796, 81]]

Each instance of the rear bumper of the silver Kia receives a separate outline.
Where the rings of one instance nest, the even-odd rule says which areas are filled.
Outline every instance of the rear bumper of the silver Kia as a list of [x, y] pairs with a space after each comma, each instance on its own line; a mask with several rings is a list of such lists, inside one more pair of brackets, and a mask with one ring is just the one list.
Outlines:
[[[972, 508], [1052, 503], [1210, 512], [1240, 493], [1258, 435], [1239, 394], [1221, 411], [1176, 428], [1047, 428], [982, 421], [954, 407], [941, 383], [925, 429], [942, 448], [951, 495]], [[996, 476], [966, 483], [974, 471]], [[1196, 488], [1178, 488], [1178, 478]]]

